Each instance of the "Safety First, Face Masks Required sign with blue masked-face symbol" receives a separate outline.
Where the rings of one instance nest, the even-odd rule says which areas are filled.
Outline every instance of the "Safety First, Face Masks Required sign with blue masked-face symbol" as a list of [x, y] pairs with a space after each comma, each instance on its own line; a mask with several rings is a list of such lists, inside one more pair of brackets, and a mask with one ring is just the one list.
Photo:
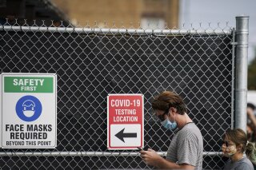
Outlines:
[[56, 74], [2, 73], [1, 81], [2, 148], [56, 147]]

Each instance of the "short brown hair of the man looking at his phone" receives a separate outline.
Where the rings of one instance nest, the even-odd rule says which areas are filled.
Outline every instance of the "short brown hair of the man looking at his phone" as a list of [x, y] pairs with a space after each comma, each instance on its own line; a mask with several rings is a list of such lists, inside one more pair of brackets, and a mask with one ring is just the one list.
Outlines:
[[177, 109], [177, 112], [181, 115], [187, 112], [182, 97], [174, 92], [164, 91], [154, 97], [154, 100], [152, 101], [152, 109], [167, 111], [170, 107]]

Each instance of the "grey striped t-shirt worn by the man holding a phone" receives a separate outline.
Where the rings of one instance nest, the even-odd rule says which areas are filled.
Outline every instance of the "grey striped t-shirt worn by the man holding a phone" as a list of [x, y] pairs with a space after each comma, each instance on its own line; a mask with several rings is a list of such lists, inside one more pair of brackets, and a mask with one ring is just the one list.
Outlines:
[[194, 123], [188, 123], [174, 135], [166, 160], [176, 164], [190, 164], [196, 170], [201, 170], [202, 152], [202, 134]]

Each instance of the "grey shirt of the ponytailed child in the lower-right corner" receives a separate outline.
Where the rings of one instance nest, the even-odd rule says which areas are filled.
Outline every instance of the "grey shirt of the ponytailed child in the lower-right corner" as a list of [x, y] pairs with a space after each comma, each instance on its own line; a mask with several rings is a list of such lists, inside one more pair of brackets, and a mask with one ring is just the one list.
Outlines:
[[251, 163], [251, 161], [244, 156], [241, 160], [238, 160], [237, 162], [232, 162], [229, 160], [224, 170], [254, 170], [254, 165]]

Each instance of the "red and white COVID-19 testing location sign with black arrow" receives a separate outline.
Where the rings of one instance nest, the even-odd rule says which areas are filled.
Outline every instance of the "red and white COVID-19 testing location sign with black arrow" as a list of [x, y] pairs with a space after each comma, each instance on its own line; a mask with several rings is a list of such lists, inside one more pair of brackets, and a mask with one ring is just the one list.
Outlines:
[[142, 94], [109, 94], [107, 97], [107, 148], [143, 148]]

